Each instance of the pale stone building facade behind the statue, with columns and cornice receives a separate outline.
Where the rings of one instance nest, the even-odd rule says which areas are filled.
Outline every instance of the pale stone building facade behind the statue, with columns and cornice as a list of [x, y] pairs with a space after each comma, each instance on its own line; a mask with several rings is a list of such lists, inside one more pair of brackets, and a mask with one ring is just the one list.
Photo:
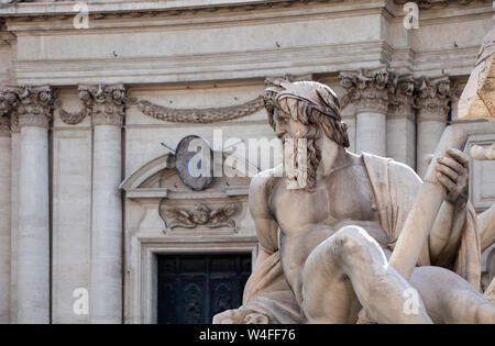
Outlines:
[[[10, 284], [0, 279], [4, 284], [0, 311], [10, 309], [10, 322], [15, 323], [18, 312], [32, 306], [24, 303], [29, 272], [20, 256], [31, 247], [26, 247], [25, 227], [19, 228], [19, 221], [25, 224], [28, 219], [19, 201], [25, 203], [26, 189], [32, 201], [45, 182], [41, 182], [44, 174], [25, 172], [25, 168], [23, 175], [34, 179], [38, 189], [25, 188], [26, 179], [20, 180], [21, 137], [28, 127], [36, 129], [28, 132], [47, 131], [43, 136], [48, 137], [53, 323], [97, 320], [96, 315], [77, 315], [73, 310], [76, 288], [88, 289], [92, 297], [91, 254], [103, 264], [100, 268], [127, 264], [120, 276], [114, 267], [109, 276], [94, 271], [98, 291], [94, 303], [103, 302], [99, 305], [102, 309], [96, 310], [101, 317], [98, 321], [120, 322], [117, 311], [123, 306], [124, 322], [133, 323], [156, 321], [155, 256], [177, 250], [241, 250], [256, 257], [254, 221], [248, 212], [250, 178], [223, 177], [204, 191], [191, 191], [180, 181], [176, 167], [158, 169], [153, 165], [169, 154], [161, 143], [175, 148], [191, 134], [213, 143], [213, 131], [221, 130], [228, 144], [276, 138], [267, 126], [265, 111], [260, 109], [265, 78], [292, 75], [287, 78], [290, 81], [323, 81], [339, 97], [346, 93], [339, 83], [341, 71], [358, 75], [361, 69], [363, 76], [373, 79], [362, 90], [363, 96], [371, 97], [367, 102], [355, 99], [341, 114], [349, 125], [351, 152], [393, 157], [422, 172], [424, 155], [435, 150], [444, 126], [453, 122], [466, 131], [469, 143], [484, 148], [482, 156], [487, 157], [495, 124], [459, 120], [457, 91], [438, 100], [421, 99], [426, 108], [417, 109], [421, 105], [421, 83], [411, 81], [429, 78], [435, 85], [435, 77], [444, 75], [452, 88], [465, 83], [480, 43], [493, 29], [492, 2], [421, 1], [416, 30], [404, 27], [403, 2], [91, 1], [89, 27], [84, 30], [74, 26], [75, 2], [22, 1], [0, 7], [0, 142], [11, 145], [11, 174], [6, 174], [4, 180], [0, 174], [0, 185], [8, 176], [11, 179], [10, 204], [7, 192], [2, 192], [3, 199], [0, 197], [7, 207], [4, 215], [0, 211], [0, 219], [11, 216], [10, 234], [8, 222], [0, 222], [0, 234], [6, 239], [9, 235], [11, 244], [10, 258], [1, 261], [4, 269], [0, 268], [0, 277], [10, 276]], [[394, 86], [387, 94], [377, 82], [384, 77], [380, 74], [384, 67]], [[50, 102], [43, 105], [36, 89], [46, 85], [55, 86], [51, 91], [57, 94], [51, 93]], [[131, 94], [142, 102], [133, 103]], [[55, 100], [62, 101], [63, 108], [52, 103]], [[455, 109], [446, 109], [449, 102]], [[41, 137], [43, 146], [45, 139]], [[0, 154], [0, 165], [7, 165], [7, 152]], [[282, 146], [276, 152], [282, 155]], [[119, 155], [121, 164], [116, 160]], [[248, 148], [235, 155], [249, 158]], [[44, 170], [45, 163], [38, 165], [38, 160], [46, 157], [37, 156], [33, 167]], [[99, 172], [94, 164], [101, 167]], [[493, 204], [493, 167], [488, 160], [470, 163], [470, 196], [476, 212]], [[119, 214], [113, 203], [119, 199], [116, 187], [143, 170], [148, 176], [125, 192], [121, 200], [125, 214]], [[164, 233], [162, 200], [174, 210], [189, 213], [195, 204], [215, 212], [234, 202], [239, 209], [230, 221], [235, 227], [199, 223], [194, 228], [177, 226]], [[43, 202], [36, 212], [44, 208]], [[205, 210], [200, 208], [201, 212]], [[92, 236], [94, 221], [103, 226], [96, 227]], [[122, 223], [123, 239], [116, 228], [118, 222]], [[45, 237], [46, 231], [40, 234]], [[117, 250], [122, 241], [123, 255]], [[7, 243], [2, 243], [0, 253], [7, 254]], [[105, 246], [98, 247], [101, 243]], [[37, 256], [40, 265], [30, 270], [46, 268], [45, 248], [32, 254], [26, 258]], [[10, 287], [10, 292], [3, 287]], [[124, 298], [113, 300], [122, 297], [122, 289]], [[46, 297], [46, 289], [42, 291], [40, 297]], [[113, 297], [109, 298], [109, 292]], [[45, 310], [43, 304], [40, 311]], [[3, 319], [4, 314], [0, 315]], [[25, 321], [25, 313], [20, 317]]]

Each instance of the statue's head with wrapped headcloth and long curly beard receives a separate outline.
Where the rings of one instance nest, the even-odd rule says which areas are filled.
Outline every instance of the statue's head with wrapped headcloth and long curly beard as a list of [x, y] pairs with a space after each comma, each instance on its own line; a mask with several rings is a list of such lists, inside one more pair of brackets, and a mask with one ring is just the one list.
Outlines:
[[348, 126], [341, 120], [337, 94], [320, 82], [276, 79], [265, 89], [264, 102], [268, 123], [278, 138], [307, 139], [306, 190], [311, 190], [321, 159], [318, 139], [327, 136], [338, 145], [349, 147]]

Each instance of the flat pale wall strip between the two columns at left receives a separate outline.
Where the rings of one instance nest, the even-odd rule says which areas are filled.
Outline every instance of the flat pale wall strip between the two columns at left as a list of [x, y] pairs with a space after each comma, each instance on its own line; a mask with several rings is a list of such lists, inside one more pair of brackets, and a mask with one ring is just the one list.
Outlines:
[[[90, 127], [54, 130], [52, 323], [56, 324], [90, 322], [89, 315], [74, 312], [74, 304], [90, 283], [91, 158]], [[84, 311], [85, 305], [77, 308]]]

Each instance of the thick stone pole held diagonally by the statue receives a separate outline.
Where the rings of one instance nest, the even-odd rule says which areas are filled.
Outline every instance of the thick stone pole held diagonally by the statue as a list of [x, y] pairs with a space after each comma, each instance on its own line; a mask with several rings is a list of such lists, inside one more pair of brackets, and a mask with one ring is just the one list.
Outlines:
[[468, 135], [462, 129], [455, 125], [448, 126], [428, 166], [415, 204], [407, 215], [403, 231], [388, 261], [406, 280], [410, 278], [422, 247], [425, 244], [428, 244], [428, 235], [447, 194], [446, 188], [438, 182], [436, 177], [435, 165], [437, 164], [437, 158], [440, 155], [444, 155], [450, 148], [462, 150], [466, 139]]

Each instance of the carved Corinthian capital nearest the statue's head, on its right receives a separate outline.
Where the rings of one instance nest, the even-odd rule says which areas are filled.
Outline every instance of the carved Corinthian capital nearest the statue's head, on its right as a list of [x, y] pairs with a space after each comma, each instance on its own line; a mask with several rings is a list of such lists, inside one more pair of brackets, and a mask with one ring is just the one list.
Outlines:
[[389, 93], [397, 85], [397, 75], [386, 67], [372, 70], [343, 71], [340, 83], [348, 93], [343, 107], [353, 103], [359, 113], [378, 112], [386, 114]]

